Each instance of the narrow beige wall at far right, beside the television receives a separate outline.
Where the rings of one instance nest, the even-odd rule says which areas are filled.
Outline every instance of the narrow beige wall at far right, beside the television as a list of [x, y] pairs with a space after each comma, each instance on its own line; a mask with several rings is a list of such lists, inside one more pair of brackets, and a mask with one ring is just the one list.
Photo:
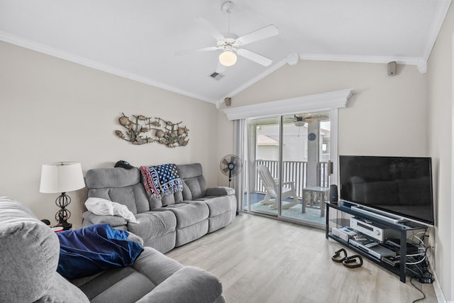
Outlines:
[[454, 301], [453, 290], [453, 32], [450, 6], [428, 61], [428, 146], [433, 162], [436, 209], [436, 274], [445, 299]]

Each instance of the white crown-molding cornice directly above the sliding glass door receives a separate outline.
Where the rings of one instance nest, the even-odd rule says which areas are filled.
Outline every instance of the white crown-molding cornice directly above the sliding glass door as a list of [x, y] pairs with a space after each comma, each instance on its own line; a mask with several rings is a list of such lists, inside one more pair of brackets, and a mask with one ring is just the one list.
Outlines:
[[328, 111], [346, 107], [352, 94], [353, 89], [344, 89], [336, 92], [237, 106], [222, 111], [227, 115], [228, 120]]

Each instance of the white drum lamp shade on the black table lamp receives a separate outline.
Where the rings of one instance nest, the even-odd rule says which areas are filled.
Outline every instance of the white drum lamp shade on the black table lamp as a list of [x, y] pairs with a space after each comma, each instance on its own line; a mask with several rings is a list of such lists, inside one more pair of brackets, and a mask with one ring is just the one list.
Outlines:
[[41, 168], [40, 192], [72, 192], [85, 187], [79, 162], [55, 162]]

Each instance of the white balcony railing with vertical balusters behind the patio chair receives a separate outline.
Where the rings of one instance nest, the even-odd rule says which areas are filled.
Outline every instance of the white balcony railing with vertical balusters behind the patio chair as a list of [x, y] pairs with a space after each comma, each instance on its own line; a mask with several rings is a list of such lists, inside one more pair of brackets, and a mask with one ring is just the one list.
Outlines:
[[[255, 167], [265, 165], [270, 170], [273, 178], [278, 178], [277, 165], [274, 160], [256, 160]], [[307, 162], [303, 161], [284, 161], [282, 163], [283, 180], [282, 182], [295, 182], [295, 189], [299, 198], [302, 197], [304, 187], [307, 186]], [[319, 162], [320, 184], [319, 186], [329, 186], [328, 162]], [[257, 170], [255, 171], [255, 192], [265, 192]]]

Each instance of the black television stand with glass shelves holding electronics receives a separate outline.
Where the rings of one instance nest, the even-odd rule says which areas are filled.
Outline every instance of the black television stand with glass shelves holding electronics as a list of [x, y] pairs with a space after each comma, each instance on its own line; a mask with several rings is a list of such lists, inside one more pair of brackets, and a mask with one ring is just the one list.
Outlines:
[[[370, 213], [370, 211], [362, 211], [363, 209], [358, 210], [355, 208], [355, 204], [350, 204], [348, 202], [339, 201], [338, 203], [326, 203], [326, 238], [331, 238], [338, 243], [341, 243], [343, 246], [350, 248], [372, 261], [373, 263], [379, 265], [380, 267], [388, 270], [389, 272], [398, 275], [402, 282], [406, 281], [406, 273], [409, 271], [409, 268], [406, 264], [407, 255], [414, 255], [415, 245], [412, 243], [407, 243], [407, 232], [408, 231], [426, 231], [427, 226], [423, 224], [417, 224], [413, 221], [393, 221], [388, 218], [382, 218], [382, 215], [377, 216], [377, 214]], [[341, 219], [331, 219], [330, 210], [335, 210], [336, 214], [341, 214]], [[331, 211], [331, 215], [333, 211]], [[336, 216], [338, 217], [338, 216]], [[367, 230], [364, 233], [358, 231], [361, 236], [366, 238], [366, 241], [357, 241], [353, 237], [353, 233], [341, 236], [336, 236], [333, 233], [333, 228], [342, 228], [349, 226], [350, 228], [350, 219], [355, 217], [360, 222], [365, 222], [362, 228], [372, 229], [373, 233], [367, 235]], [[375, 228], [378, 228], [379, 231], [376, 231]], [[380, 229], [382, 228], [382, 229]], [[353, 228], [350, 228], [353, 231]], [[380, 238], [378, 233], [380, 230], [386, 230], [389, 235], [395, 235], [392, 239]], [[380, 238], [380, 240], [378, 239]], [[377, 245], [367, 246], [367, 241], [375, 241]], [[417, 249], [417, 248], [416, 248]], [[392, 250], [394, 253], [389, 253], [389, 250]], [[407, 253], [408, 251], [408, 253]], [[383, 253], [385, 252], [385, 253]], [[421, 253], [422, 255], [422, 253]], [[421, 261], [425, 262], [425, 261]]]

